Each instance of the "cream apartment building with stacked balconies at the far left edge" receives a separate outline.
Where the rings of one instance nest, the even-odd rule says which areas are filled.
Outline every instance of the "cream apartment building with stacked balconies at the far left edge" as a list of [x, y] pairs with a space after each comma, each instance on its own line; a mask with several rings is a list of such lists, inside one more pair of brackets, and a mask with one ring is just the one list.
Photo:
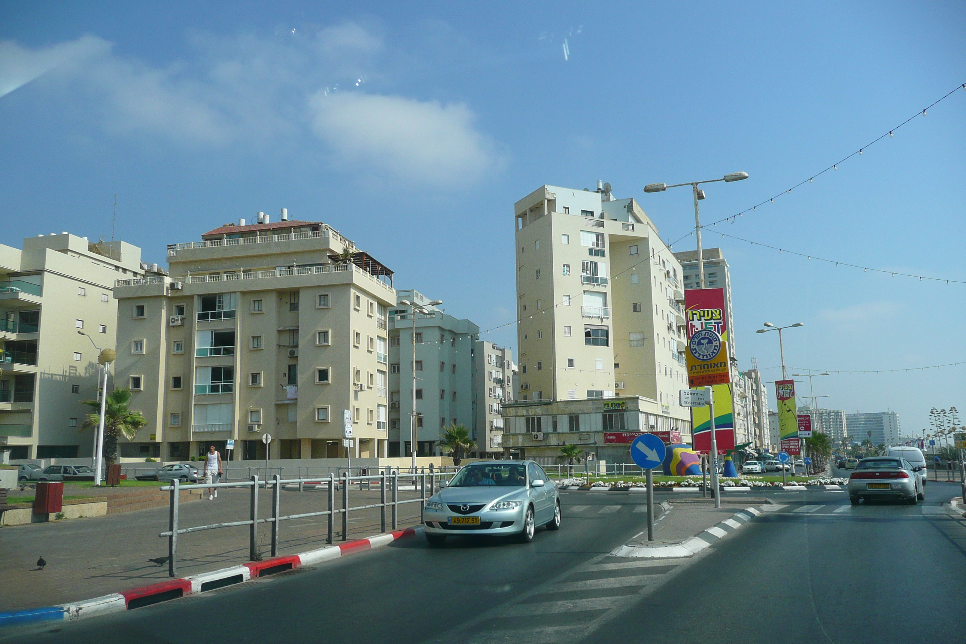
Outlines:
[[0, 244], [0, 450], [11, 459], [93, 455], [82, 402], [99, 396], [99, 350], [114, 348], [114, 282], [147, 268], [124, 241], [61, 233], [25, 238], [22, 250]]

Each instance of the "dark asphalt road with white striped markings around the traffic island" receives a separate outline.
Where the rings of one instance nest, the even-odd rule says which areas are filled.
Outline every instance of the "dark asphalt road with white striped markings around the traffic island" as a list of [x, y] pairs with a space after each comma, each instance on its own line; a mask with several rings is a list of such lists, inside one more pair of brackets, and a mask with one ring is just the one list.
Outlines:
[[771, 491], [778, 511], [696, 557], [657, 561], [608, 555], [640, 532], [638, 499], [562, 492], [563, 527], [530, 545], [400, 540], [0, 641], [922, 641], [937, 624], [958, 624], [966, 596], [966, 520], [940, 505], [958, 490], [930, 483], [918, 506], [859, 507], [838, 490]]

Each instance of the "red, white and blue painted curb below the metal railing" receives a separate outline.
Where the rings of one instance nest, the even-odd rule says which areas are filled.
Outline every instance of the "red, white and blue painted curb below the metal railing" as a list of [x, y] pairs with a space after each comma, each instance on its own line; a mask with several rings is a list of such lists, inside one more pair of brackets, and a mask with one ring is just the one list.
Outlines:
[[397, 539], [411, 537], [421, 531], [422, 526], [406, 528], [405, 530], [393, 530], [392, 532], [385, 532], [372, 537], [366, 537], [365, 539], [356, 539], [345, 544], [339, 544], [338, 546], [320, 547], [315, 550], [308, 550], [299, 554], [283, 557], [274, 557], [273, 559], [267, 559], [265, 561], [250, 561], [241, 564], [241, 566], [222, 568], [217, 571], [194, 574], [180, 579], [170, 579], [150, 586], [131, 588], [121, 593], [104, 595], [93, 600], [65, 603], [58, 606], [44, 606], [43, 608], [31, 608], [29, 610], [0, 612], [0, 628], [34, 622], [75, 621], [122, 610], [133, 610], [134, 608], [141, 608], [142, 606], [150, 606], [153, 603], [167, 602], [188, 595], [196, 595], [217, 588], [243, 583], [260, 576], [282, 573], [303, 566], [315, 566], [329, 559], [338, 559], [339, 557], [345, 557], [355, 552], [361, 552], [362, 550], [388, 546]]

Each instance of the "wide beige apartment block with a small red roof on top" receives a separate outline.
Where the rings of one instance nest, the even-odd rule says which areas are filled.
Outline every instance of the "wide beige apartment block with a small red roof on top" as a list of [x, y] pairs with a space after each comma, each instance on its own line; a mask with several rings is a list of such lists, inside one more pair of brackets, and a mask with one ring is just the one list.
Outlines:
[[226, 457], [263, 459], [263, 434], [274, 459], [386, 455], [391, 270], [285, 209], [171, 244], [168, 264], [171, 277], [115, 290], [117, 384], [148, 419], [122, 456], [187, 459], [232, 439]]

